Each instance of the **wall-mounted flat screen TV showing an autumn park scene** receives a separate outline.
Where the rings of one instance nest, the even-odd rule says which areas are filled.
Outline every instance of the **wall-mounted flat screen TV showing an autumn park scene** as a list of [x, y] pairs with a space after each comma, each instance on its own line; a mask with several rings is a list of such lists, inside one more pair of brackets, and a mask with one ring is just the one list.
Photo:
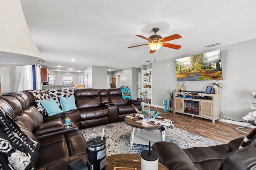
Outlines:
[[178, 81], [222, 80], [220, 50], [175, 60]]

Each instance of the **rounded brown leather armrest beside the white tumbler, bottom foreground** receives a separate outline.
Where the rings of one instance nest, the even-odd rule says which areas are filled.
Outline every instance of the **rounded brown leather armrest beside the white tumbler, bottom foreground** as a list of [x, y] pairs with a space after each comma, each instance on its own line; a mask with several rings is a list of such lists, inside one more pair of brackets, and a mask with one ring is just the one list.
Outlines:
[[152, 149], [158, 153], [159, 162], [169, 170], [198, 170], [185, 152], [174, 143], [156, 142]]

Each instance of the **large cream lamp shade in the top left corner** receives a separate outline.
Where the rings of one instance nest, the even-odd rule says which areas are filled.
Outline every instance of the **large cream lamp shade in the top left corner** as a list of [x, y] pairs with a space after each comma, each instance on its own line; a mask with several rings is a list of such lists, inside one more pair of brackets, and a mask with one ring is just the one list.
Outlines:
[[0, 66], [44, 63], [34, 43], [20, 0], [0, 0]]

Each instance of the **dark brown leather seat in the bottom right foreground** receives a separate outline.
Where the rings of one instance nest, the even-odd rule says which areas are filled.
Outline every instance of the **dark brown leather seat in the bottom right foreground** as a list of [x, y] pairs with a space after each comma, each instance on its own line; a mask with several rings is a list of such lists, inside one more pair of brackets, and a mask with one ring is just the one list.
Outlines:
[[181, 149], [170, 142], [156, 142], [152, 149], [159, 162], [169, 170], [254, 170], [256, 169], [256, 135], [239, 149], [244, 137], [228, 144]]

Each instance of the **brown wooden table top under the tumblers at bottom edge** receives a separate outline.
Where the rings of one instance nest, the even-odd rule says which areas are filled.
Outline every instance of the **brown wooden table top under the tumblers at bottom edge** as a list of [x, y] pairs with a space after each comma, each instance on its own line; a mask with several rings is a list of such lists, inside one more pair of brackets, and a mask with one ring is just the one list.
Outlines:
[[[114, 154], [107, 156], [106, 170], [113, 170], [114, 167], [137, 168], [141, 170], [139, 154]], [[168, 170], [158, 162], [158, 170]]]

